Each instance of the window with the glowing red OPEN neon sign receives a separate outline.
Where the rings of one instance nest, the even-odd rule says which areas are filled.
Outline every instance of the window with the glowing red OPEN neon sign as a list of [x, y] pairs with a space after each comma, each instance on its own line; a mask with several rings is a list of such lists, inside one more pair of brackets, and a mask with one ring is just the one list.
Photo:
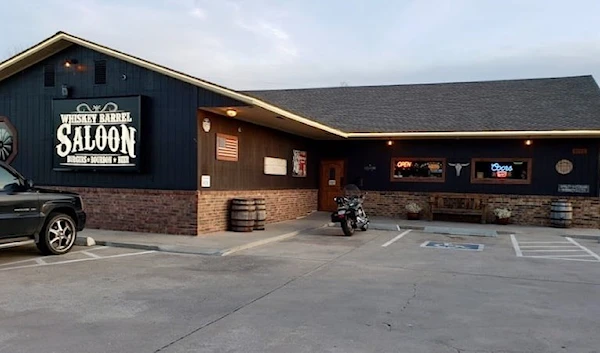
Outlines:
[[445, 158], [392, 158], [391, 181], [443, 183], [446, 179]]

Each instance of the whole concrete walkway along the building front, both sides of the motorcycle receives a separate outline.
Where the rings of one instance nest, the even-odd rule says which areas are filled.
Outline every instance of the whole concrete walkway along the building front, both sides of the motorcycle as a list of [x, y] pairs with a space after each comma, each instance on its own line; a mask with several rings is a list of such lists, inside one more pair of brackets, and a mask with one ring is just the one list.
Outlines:
[[[329, 221], [328, 212], [315, 212], [302, 219], [267, 224], [266, 230], [264, 231], [254, 231], [251, 233], [223, 231], [204, 234], [197, 237], [86, 229], [80, 233], [78, 244], [87, 244], [88, 246], [98, 244], [132, 249], [223, 256], [230, 255], [237, 251], [262, 246], [271, 242], [281, 241], [325, 225], [333, 228], [339, 227], [338, 223], [329, 223]], [[413, 229], [421, 230], [426, 233], [492, 237], [500, 234], [558, 235], [569, 236], [572, 238], [592, 239], [600, 242], [600, 230], [598, 229], [552, 228], [426, 220], [408, 221], [389, 217], [371, 217], [370, 229], [386, 231]]]

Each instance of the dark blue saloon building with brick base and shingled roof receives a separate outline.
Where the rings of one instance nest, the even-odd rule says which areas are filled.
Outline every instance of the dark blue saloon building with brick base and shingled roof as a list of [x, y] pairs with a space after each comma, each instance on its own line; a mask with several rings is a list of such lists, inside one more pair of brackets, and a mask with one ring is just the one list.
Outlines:
[[0, 159], [116, 230], [226, 229], [239, 196], [293, 219], [348, 182], [370, 214], [475, 197], [547, 225], [561, 197], [598, 227], [599, 113], [591, 76], [240, 92], [64, 32], [0, 63]]

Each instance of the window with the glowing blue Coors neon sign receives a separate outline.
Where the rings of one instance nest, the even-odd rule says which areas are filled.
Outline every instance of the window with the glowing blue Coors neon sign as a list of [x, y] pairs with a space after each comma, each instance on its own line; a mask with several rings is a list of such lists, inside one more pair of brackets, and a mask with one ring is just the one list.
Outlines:
[[471, 183], [531, 184], [531, 158], [474, 158]]

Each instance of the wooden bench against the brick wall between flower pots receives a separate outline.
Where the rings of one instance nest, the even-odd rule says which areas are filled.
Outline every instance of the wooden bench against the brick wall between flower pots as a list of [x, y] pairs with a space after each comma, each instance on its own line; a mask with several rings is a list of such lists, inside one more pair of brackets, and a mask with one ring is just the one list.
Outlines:
[[431, 220], [436, 214], [479, 216], [485, 223], [487, 205], [480, 196], [434, 195], [429, 198]]

